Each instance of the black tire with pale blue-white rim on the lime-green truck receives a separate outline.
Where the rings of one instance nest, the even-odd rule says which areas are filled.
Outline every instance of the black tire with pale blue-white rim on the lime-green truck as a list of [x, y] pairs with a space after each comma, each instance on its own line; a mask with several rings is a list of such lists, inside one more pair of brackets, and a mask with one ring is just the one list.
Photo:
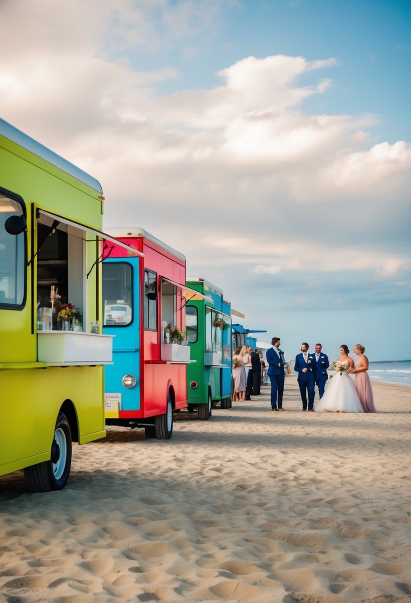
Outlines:
[[26, 467], [24, 475], [32, 492], [63, 490], [69, 479], [71, 468], [71, 431], [63, 412], [58, 413], [50, 460]]

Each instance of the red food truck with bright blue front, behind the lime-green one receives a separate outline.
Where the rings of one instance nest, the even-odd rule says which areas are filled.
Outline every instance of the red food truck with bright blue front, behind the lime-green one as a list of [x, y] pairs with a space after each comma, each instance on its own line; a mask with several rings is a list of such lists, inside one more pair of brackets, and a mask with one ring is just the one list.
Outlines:
[[104, 327], [115, 335], [105, 367], [105, 422], [169, 440], [173, 412], [187, 408], [186, 258], [143, 229], [110, 229], [140, 255], [108, 245], [103, 262]]

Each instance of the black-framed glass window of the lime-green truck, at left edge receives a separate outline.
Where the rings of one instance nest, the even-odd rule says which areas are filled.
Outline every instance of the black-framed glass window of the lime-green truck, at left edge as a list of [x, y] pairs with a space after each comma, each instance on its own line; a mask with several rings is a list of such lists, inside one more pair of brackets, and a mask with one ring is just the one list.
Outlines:
[[[25, 304], [26, 233], [20, 230], [24, 207], [0, 190], [0, 307], [21, 309]], [[16, 228], [17, 226], [17, 228]]]

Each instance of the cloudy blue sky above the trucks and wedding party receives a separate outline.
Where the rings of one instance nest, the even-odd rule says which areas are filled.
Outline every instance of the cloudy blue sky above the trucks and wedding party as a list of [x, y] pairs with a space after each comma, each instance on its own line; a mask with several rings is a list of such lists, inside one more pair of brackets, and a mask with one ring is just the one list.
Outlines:
[[[411, 0], [0, 0], [0, 116], [260, 341], [410, 359]], [[352, 355], [352, 354], [351, 354]]]

